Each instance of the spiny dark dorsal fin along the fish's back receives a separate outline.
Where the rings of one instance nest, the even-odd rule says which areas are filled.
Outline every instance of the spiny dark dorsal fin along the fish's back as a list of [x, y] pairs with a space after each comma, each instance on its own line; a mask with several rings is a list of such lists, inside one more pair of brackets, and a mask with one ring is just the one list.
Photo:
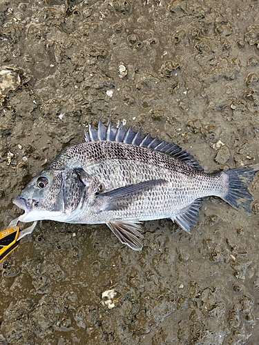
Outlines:
[[[89, 133], [89, 134], [88, 134]], [[183, 161], [192, 168], [203, 171], [203, 168], [198, 164], [193, 155], [190, 155], [186, 150], [180, 148], [180, 146], [162, 141], [159, 138], [153, 138], [150, 133], [144, 135], [142, 129], [138, 132], [134, 132], [130, 127], [128, 130], [121, 123], [119, 127], [115, 127], [112, 121], [109, 122], [108, 126], [104, 126], [102, 121], [98, 121], [98, 129], [93, 128], [88, 124], [88, 133], [84, 132], [84, 138], [88, 141], [118, 141], [125, 144], [132, 144], [135, 146], [142, 146], [151, 150], [157, 150], [165, 153], [173, 158]]]

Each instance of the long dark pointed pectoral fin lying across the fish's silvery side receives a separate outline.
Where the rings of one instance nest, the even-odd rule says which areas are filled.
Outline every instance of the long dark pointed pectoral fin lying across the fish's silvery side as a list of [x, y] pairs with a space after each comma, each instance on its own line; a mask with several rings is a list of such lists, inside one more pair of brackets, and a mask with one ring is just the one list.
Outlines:
[[99, 201], [102, 200], [102, 209], [104, 210], [123, 210], [132, 204], [138, 197], [142, 196], [146, 190], [162, 184], [166, 184], [164, 179], [153, 179], [140, 182], [139, 184], [130, 184], [125, 187], [116, 188], [105, 193], [98, 193], [96, 196]]

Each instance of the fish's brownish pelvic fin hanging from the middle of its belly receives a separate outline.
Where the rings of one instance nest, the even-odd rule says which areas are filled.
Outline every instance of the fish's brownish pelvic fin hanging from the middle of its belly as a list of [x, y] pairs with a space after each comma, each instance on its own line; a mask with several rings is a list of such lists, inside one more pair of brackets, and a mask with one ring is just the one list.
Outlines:
[[134, 221], [108, 221], [107, 226], [113, 231], [120, 242], [133, 250], [142, 250], [143, 235], [139, 232], [140, 226]]

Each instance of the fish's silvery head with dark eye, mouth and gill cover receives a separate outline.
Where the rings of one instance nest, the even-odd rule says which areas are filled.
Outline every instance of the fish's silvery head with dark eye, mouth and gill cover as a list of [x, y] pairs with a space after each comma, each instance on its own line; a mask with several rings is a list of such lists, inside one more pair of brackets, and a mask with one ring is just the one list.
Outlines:
[[50, 166], [32, 179], [13, 203], [25, 211], [19, 221], [66, 221], [80, 212], [86, 190], [77, 169]]

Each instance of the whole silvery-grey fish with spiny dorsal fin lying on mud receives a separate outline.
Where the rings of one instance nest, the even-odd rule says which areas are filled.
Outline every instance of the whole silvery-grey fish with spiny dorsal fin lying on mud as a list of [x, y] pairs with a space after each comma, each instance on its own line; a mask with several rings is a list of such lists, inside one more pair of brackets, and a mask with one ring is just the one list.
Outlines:
[[61, 151], [13, 200], [25, 211], [19, 221], [106, 224], [122, 244], [141, 250], [142, 221], [168, 218], [191, 233], [204, 197], [251, 213], [252, 166], [209, 174], [177, 144], [112, 121], [88, 124], [84, 139]]

